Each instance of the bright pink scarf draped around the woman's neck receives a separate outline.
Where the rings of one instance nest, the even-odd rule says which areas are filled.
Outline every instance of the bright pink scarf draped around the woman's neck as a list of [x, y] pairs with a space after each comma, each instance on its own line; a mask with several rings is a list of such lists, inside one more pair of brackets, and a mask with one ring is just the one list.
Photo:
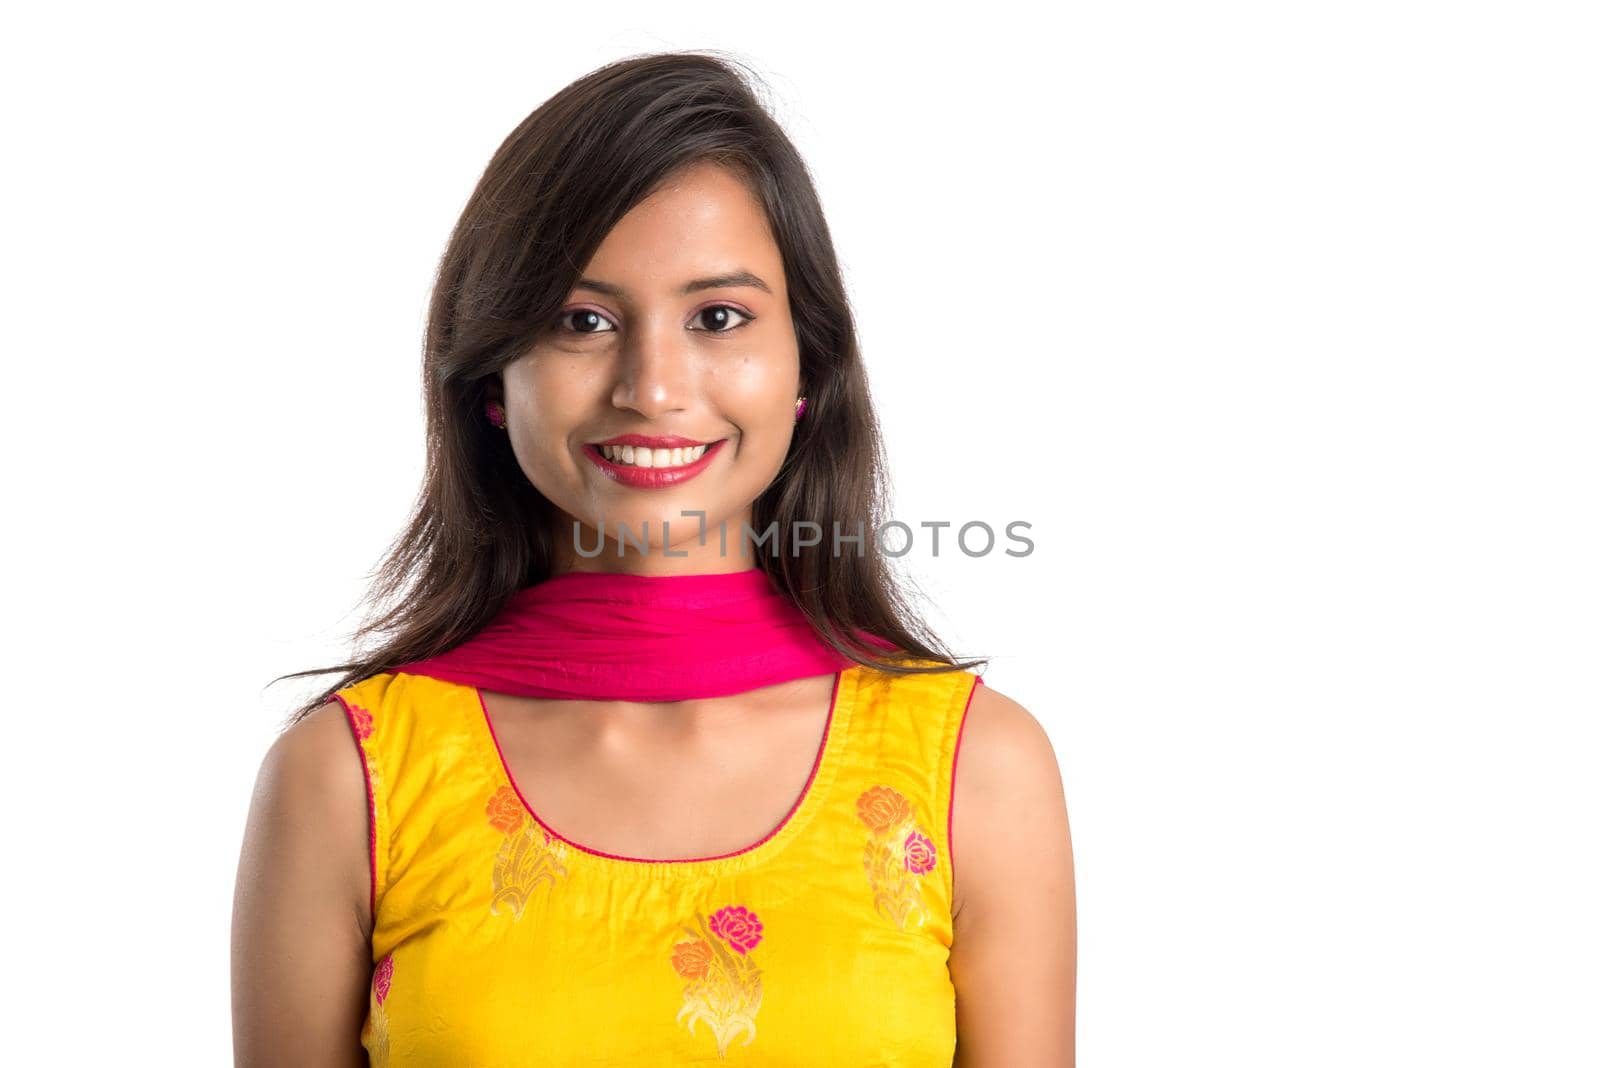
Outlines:
[[851, 664], [818, 638], [766, 572], [749, 568], [560, 574], [514, 593], [466, 643], [394, 670], [517, 697], [669, 702], [742, 694]]

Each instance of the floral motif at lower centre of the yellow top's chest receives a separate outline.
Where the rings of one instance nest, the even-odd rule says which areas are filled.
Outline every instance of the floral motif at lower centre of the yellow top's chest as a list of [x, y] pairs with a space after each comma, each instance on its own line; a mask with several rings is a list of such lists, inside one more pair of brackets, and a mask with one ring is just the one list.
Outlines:
[[704, 1022], [717, 1039], [717, 1055], [728, 1055], [728, 1044], [744, 1031], [744, 1044], [755, 1041], [755, 1014], [762, 1007], [762, 969], [750, 958], [762, 942], [762, 921], [742, 905], [728, 905], [710, 915], [694, 916], [699, 931], [683, 931], [688, 942], [672, 946], [672, 967], [688, 980], [678, 1022], [690, 1034]]

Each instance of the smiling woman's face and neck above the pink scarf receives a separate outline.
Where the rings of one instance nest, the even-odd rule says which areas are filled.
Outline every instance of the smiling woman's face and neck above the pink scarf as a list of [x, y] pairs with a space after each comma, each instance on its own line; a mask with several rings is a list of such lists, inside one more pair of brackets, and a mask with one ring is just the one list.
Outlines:
[[[717, 165], [669, 179], [606, 235], [554, 331], [501, 384], [517, 462], [563, 513], [557, 571], [754, 566], [741, 536], [789, 451], [800, 397], [782, 256], [760, 203]], [[704, 545], [691, 512], [706, 513]], [[573, 520], [586, 552], [603, 534], [598, 556], [578, 555]]]

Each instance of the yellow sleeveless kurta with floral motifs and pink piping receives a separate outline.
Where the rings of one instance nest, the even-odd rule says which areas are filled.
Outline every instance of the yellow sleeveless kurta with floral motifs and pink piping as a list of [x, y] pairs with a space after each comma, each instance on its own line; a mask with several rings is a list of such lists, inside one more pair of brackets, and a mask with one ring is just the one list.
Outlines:
[[562, 838], [472, 686], [339, 691], [368, 782], [371, 1063], [947, 1068], [950, 798], [978, 684], [840, 671], [789, 815], [696, 860]]

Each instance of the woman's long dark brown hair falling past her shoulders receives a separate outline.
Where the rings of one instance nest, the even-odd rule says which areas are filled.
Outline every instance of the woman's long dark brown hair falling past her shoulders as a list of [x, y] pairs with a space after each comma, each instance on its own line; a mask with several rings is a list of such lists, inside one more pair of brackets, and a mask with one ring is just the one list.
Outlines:
[[[611, 227], [702, 161], [728, 166], [765, 208], [800, 345], [805, 419], [755, 500], [754, 529], [816, 523], [822, 540], [757, 553], [755, 566], [856, 664], [922, 673], [986, 662], [950, 656], [875, 544], [888, 481], [854, 317], [811, 174], [758, 85], [715, 51], [630, 56], [563, 88], [494, 152], [438, 264], [422, 352], [426, 475], [405, 531], [368, 576], [373, 617], [352, 636], [376, 643], [347, 664], [280, 675], [342, 673], [290, 724], [346, 686], [461, 644], [512, 593], [550, 576], [557, 513], [483, 417], [486, 382], [549, 329]], [[861, 555], [851, 542], [830, 555], [835, 523], [840, 537], [866, 532]], [[858, 643], [856, 630], [899, 652]]]

